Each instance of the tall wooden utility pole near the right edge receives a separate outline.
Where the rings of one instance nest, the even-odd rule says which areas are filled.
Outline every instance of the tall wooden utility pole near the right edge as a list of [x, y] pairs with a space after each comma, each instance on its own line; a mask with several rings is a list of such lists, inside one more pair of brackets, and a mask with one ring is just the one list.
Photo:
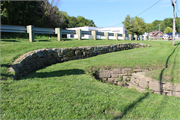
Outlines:
[[172, 1], [172, 6], [173, 6], [173, 40], [172, 40], [172, 45], [174, 46], [175, 32], [176, 32], [176, 0], [174, 0], [174, 3]]

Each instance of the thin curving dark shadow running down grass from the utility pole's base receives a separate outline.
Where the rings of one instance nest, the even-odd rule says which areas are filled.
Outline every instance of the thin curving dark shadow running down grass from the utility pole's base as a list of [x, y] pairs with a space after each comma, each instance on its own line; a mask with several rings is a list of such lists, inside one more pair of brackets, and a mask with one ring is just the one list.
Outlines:
[[[174, 54], [174, 52], [176, 51], [176, 49], [178, 48], [179, 43], [175, 44], [175, 46], [176, 46], [176, 48], [174, 48], [173, 52], [168, 56], [168, 58], [167, 58], [167, 60], [166, 60], [166, 66], [165, 66], [165, 68], [161, 70], [161, 73], [160, 73], [160, 75], [159, 75], [159, 85], [160, 85], [160, 94], [161, 94], [161, 95], [162, 95], [162, 91], [163, 91], [163, 89], [162, 89], [162, 76], [163, 76], [163, 74], [164, 74], [164, 70], [165, 70], [166, 68], [168, 68], [169, 59], [170, 59], [170, 57]], [[172, 81], [172, 82], [173, 82], [173, 81]]]

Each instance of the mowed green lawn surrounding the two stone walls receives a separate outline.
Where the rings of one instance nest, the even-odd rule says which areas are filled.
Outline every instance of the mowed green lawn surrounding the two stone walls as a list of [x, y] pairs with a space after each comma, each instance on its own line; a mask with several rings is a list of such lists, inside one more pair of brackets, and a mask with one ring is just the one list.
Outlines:
[[[179, 44], [138, 41], [151, 45], [58, 63], [11, 80], [8, 66], [20, 55], [40, 48], [96, 46], [131, 41], [1, 39], [2, 119], [180, 119], [180, 98], [101, 83], [87, 71], [92, 67], [152, 68], [147, 74], [163, 81], [179, 81]], [[136, 42], [136, 41], [132, 41]], [[6, 80], [7, 79], [7, 80]]]

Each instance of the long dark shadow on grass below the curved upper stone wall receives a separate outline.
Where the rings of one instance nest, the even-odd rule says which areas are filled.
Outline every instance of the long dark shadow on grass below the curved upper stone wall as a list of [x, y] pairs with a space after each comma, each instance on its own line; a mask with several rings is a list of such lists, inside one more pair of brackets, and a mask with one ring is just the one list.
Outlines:
[[48, 77], [61, 77], [65, 75], [80, 75], [85, 74], [84, 70], [81, 69], [69, 69], [69, 70], [58, 70], [52, 72], [41, 72], [29, 74], [27, 77], [24, 78], [48, 78]]

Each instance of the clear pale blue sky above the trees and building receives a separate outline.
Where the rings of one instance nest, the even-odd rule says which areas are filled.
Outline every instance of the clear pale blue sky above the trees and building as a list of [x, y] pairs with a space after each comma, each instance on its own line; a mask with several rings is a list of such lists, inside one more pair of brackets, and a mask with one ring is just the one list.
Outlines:
[[[152, 5], [154, 6], [151, 7]], [[151, 8], [145, 11], [149, 7]], [[135, 17], [143, 11], [145, 12], [138, 17], [146, 23], [173, 18], [171, 0], [61, 0], [58, 8], [69, 16], [83, 16], [93, 20], [97, 27], [123, 26], [122, 22], [127, 15]], [[178, 10], [180, 0], [177, 0]], [[179, 16], [180, 12], [177, 13]]]

